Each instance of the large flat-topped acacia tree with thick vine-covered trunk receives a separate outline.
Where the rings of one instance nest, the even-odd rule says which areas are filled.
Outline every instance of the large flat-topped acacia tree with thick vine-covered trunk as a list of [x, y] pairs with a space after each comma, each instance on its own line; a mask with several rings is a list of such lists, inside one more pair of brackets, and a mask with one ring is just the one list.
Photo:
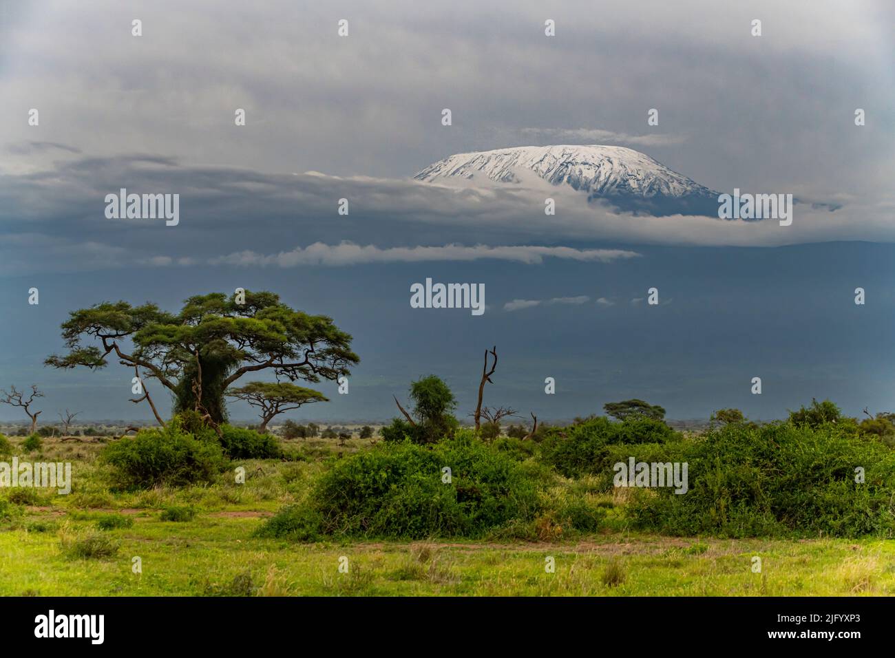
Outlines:
[[168, 389], [175, 412], [200, 411], [214, 423], [226, 421], [226, 389], [249, 372], [317, 382], [347, 376], [360, 362], [351, 335], [331, 318], [295, 311], [266, 291], [196, 295], [179, 313], [154, 303], [98, 303], [72, 311], [62, 337], [68, 354], [48, 357], [47, 365], [97, 370], [117, 358]]

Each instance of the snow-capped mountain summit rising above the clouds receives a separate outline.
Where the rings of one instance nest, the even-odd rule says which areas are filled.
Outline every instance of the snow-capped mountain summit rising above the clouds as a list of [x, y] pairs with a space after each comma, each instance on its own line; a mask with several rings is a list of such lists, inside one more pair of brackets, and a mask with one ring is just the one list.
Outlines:
[[522, 183], [533, 172], [553, 185], [567, 184], [624, 210], [652, 215], [717, 214], [718, 192], [621, 146], [524, 146], [458, 153], [413, 176], [430, 183], [481, 179]]

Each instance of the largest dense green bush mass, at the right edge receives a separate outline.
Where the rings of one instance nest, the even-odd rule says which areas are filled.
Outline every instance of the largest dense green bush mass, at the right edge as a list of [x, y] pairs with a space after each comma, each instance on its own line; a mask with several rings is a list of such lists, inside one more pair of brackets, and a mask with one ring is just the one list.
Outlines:
[[676, 449], [655, 460], [686, 461], [689, 491], [635, 490], [628, 511], [636, 526], [677, 535], [895, 536], [895, 453], [838, 423], [730, 424]]

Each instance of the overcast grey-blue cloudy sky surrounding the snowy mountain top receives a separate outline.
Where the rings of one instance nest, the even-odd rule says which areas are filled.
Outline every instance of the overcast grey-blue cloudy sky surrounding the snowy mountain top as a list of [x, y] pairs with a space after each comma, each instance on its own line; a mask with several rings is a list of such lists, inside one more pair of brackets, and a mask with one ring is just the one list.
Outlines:
[[[59, 324], [242, 286], [354, 336], [349, 394], [321, 384], [332, 401], [295, 418], [387, 419], [432, 372], [465, 416], [494, 345], [486, 403], [526, 417], [626, 397], [673, 418], [774, 418], [812, 397], [891, 411], [892, 25], [885, 2], [0, 0], [0, 388], [37, 383], [42, 420], [149, 418], [123, 366], [42, 365]], [[801, 202], [780, 226], [632, 217], [556, 188], [546, 217], [537, 185], [412, 179], [454, 153], [555, 143]], [[120, 188], [180, 194], [178, 225], [107, 218]], [[486, 312], [411, 308], [426, 278], [485, 284]]]

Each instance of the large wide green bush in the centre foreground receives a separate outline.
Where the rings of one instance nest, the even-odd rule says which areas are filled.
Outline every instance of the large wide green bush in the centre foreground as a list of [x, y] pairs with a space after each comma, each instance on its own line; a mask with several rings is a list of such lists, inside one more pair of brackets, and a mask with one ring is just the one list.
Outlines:
[[[450, 483], [442, 482], [445, 466]], [[472, 432], [431, 448], [383, 443], [339, 460], [320, 475], [304, 506], [284, 508], [260, 534], [300, 541], [320, 535], [479, 537], [514, 518], [533, 518], [537, 484], [523, 465]]]

